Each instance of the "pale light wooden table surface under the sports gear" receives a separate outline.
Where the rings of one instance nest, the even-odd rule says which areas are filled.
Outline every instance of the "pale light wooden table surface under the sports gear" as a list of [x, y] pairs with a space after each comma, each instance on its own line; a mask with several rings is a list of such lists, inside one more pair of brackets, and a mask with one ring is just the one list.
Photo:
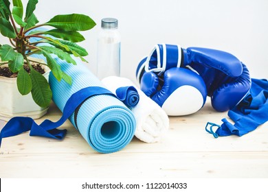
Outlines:
[[[42, 119], [57, 121], [52, 103]], [[244, 136], [214, 139], [208, 121], [221, 124], [227, 112], [210, 103], [185, 117], [170, 117], [159, 143], [134, 138], [120, 152], [99, 154], [66, 121], [63, 141], [29, 136], [5, 138], [0, 148], [1, 178], [268, 178], [268, 123]]]

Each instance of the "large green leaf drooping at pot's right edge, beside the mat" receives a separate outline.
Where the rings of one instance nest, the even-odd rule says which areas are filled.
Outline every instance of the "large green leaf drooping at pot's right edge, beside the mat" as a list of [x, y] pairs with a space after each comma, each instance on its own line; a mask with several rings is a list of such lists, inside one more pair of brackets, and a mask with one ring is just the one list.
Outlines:
[[31, 69], [30, 77], [32, 80], [32, 98], [38, 106], [46, 108], [52, 100], [52, 91], [47, 80], [34, 69]]

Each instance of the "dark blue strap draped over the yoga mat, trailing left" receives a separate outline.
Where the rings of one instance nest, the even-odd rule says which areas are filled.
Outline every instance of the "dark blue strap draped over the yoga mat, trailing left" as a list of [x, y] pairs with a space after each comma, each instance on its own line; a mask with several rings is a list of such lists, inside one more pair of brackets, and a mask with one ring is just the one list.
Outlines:
[[15, 136], [23, 132], [30, 130], [30, 136], [44, 136], [52, 139], [63, 139], [67, 130], [58, 130], [56, 128], [63, 125], [63, 123], [71, 116], [71, 114], [76, 110], [76, 108], [94, 95], [110, 94], [110, 91], [102, 87], [87, 87], [71, 95], [68, 99], [65, 108], [63, 110], [63, 116], [56, 122], [52, 122], [48, 119], [43, 121], [38, 125], [34, 119], [30, 117], [13, 117], [5, 124], [0, 132], [0, 147], [2, 138], [8, 136]]

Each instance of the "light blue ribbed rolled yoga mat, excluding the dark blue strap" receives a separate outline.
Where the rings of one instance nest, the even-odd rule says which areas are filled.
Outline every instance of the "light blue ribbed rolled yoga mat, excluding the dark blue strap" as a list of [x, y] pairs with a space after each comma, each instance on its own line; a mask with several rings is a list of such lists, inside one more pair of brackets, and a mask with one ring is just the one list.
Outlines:
[[[61, 111], [69, 97], [82, 88], [104, 87], [84, 64], [77, 62], [75, 66], [59, 58], [55, 60], [60, 64], [62, 71], [72, 78], [70, 86], [63, 80], [58, 82], [54, 75], [49, 75], [52, 99]], [[87, 143], [100, 153], [117, 152], [124, 148], [133, 139], [136, 127], [133, 112], [112, 95], [89, 97], [69, 120]]]

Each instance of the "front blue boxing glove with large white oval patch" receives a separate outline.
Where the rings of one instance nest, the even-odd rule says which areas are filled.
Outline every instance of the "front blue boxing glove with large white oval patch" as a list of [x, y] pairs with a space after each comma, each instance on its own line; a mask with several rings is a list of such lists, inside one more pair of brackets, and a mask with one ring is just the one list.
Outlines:
[[162, 75], [145, 72], [140, 85], [142, 91], [171, 116], [197, 112], [207, 96], [202, 78], [183, 68], [168, 69]]

